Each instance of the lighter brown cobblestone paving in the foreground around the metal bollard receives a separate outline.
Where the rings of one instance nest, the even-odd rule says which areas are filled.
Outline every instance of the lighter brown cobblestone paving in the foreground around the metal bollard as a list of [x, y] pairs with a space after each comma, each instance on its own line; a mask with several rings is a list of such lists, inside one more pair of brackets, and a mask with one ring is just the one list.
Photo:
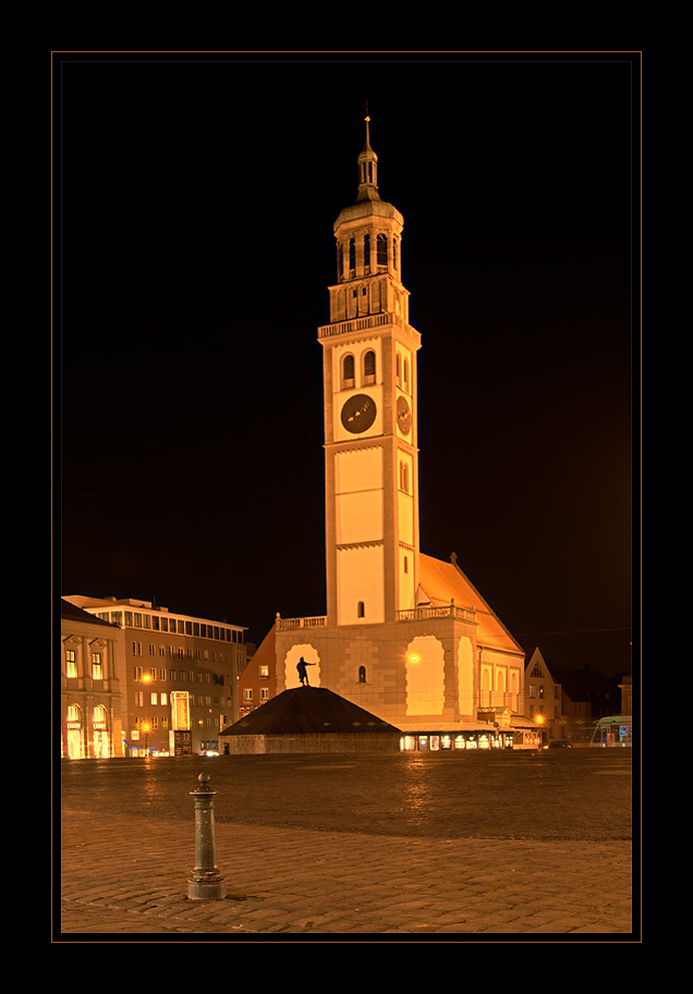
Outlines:
[[[366, 768], [375, 775], [377, 764]], [[147, 775], [160, 771], [166, 781], [170, 770], [155, 763]], [[70, 775], [76, 784], [78, 774]], [[108, 770], [101, 768], [99, 776], [101, 784]], [[56, 942], [77, 941], [80, 934], [101, 934], [104, 941], [110, 934], [115, 936], [111, 941], [126, 942], [156, 933], [162, 941], [203, 941], [205, 934], [231, 942], [281, 941], [283, 935], [336, 942], [411, 935], [418, 941], [438, 934], [464, 942], [482, 933], [636, 941], [631, 840], [623, 837], [624, 822], [616, 812], [613, 838], [589, 837], [589, 827], [580, 837], [573, 837], [574, 826], [564, 838], [503, 837], [500, 832], [487, 837], [485, 819], [479, 837], [450, 838], [435, 826], [428, 837], [412, 836], [404, 823], [393, 822], [398, 834], [377, 817], [363, 821], [344, 814], [339, 820], [336, 814], [331, 827], [319, 829], [275, 823], [281, 812], [268, 798], [251, 812], [253, 823], [217, 821], [217, 859], [228, 894], [196, 901], [186, 896], [194, 866], [192, 807], [189, 818], [181, 815], [180, 802], [178, 810], [159, 815], [133, 811], [131, 776], [136, 776], [135, 768], [131, 774], [120, 766], [112, 789], [122, 790], [123, 799], [98, 791], [82, 796], [76, 789], [70, 793], [71, 803], [63, 798]], [[366, 777], [363, 789], [378, 797], [381, 784]], [[333, 789], [339, 790], [339, 782]], [[291, 808], [289, 821], [295, 810]], [[270, 823], [260, 823], [263, 811], [271, 812]]]

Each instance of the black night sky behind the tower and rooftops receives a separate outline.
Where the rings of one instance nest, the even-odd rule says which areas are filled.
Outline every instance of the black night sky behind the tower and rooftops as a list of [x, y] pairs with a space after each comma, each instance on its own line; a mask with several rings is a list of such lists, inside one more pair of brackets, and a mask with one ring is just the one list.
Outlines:
[[[62, 593], [323, 614], [332, 223], [369, 101], [404, 214], [422, 551], [630, 668], [635, 53], [58, 53]], [[635, 289], [636, 290], [636, 289]]]

